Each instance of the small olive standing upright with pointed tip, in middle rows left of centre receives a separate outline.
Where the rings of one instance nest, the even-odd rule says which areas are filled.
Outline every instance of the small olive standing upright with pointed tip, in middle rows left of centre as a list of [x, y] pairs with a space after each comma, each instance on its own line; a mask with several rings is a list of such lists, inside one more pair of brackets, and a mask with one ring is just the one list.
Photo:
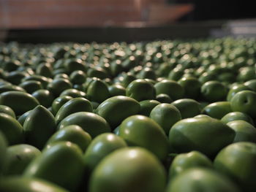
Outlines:
[[90, 101], [96, 101], [98, 103], [101, 103], [110, 97], [108, 85], [106, 85], [105, 82], [99, 80], [98, 78], [94, 78], [89, 83], [86, 93], [87, 98]]

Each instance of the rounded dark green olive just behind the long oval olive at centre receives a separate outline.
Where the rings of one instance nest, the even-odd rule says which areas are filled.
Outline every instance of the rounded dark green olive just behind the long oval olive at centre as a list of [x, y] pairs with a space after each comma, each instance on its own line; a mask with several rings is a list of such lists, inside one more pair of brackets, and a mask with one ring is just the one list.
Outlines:
[[127, 86], [127, 96], [143, 101], [156, 98], [156, 90], [151, 82], [146, 80], [134, 80]]

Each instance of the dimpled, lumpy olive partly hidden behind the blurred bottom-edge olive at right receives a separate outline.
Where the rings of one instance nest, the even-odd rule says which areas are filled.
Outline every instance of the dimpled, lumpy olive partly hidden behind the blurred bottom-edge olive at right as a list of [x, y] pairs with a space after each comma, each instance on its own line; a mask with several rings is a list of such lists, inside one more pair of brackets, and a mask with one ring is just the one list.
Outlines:
[[203, 155], [203, 153], [196, 150], [189, 153], [181, 153], [173, 159], [169, 169], [169, 177], [173, 180], [173, 178], [178, 174], [181, 174], [181, 172], [193, 167], [205, 167], [211, 169], [213, 168], [213, 164], [206, 155]]

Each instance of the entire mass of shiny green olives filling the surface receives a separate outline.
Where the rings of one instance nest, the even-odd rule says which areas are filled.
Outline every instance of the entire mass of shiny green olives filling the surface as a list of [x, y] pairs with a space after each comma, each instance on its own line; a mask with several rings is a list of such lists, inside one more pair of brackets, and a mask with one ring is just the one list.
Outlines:
[[256, 40], [0, 45], [0, 191], [255, 192]]

